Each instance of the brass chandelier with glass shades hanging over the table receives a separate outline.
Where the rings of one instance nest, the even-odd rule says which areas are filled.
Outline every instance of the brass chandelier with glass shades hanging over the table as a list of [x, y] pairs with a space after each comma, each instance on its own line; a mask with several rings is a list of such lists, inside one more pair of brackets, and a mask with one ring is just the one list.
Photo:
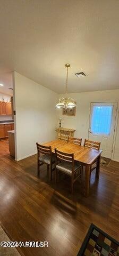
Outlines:
[[65, 64], [66, 67], [66, 90], [65, 90], [65, 97], [59, 99], [56, 108], [74, 108], [77, 107], [74, 99], [67, 97], [67, 84], [68, 84], [68, 68], [70, 67], [70, 64]]

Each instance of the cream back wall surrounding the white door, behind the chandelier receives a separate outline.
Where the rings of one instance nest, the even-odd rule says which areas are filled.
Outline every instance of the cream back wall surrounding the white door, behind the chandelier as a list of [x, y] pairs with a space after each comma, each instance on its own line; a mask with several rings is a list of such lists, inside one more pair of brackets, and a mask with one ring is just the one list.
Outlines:
[[[62, 95], [60, 95], [62, 97]], [[63, 116], [61, 110], [58, 111], [58, 117], [62, 117], [62, 127], [76, 129], [74, 136], [81, 137], [83, 140], [88, 138], [90, 102], [111, 102], [119, 103], [119, 90], [82, 92], [69, 94], [77, 101], [77, 110], [75, 116]], [[119, 119], [117, 123], [114, 160], [119, 162]]]

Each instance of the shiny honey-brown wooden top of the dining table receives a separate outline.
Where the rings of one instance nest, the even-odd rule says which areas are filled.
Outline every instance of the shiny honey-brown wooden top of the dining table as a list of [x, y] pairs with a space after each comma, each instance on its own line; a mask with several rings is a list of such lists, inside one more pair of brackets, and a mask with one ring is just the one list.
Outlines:
[[75, 145], [65, 140], [53, 140], [43, 144], [44, 146], [51, 146], [54, 153], [54, 149], [57, 148], [65, 153], [74, 153], [74, 159], [83, 164], [92, 164], [95, 159], [101, 154], [102, 150], [83, 147]]

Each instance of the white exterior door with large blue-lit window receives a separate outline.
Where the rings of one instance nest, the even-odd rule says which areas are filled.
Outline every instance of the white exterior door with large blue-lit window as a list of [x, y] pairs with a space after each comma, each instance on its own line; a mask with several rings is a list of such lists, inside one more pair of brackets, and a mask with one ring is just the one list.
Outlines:
[[117, 102], [91, 103], [89, 140], [100, 141], [102, 156], [112, 158]]

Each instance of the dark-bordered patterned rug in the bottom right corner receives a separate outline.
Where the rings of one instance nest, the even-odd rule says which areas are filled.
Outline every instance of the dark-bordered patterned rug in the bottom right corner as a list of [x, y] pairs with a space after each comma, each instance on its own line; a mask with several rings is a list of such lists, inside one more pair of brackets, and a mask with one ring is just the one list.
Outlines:
[[104, 231], [90, 225], [77, 256], [119, 256], [119, 243]]

